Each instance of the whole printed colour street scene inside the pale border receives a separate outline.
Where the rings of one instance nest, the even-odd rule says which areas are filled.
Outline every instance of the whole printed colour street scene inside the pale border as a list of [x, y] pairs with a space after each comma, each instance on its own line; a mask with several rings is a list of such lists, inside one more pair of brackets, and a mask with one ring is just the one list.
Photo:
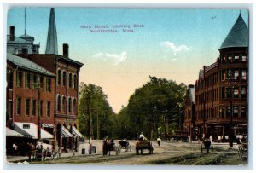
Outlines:
[[249, 12], [9, 8], [6, 162], [247, 166]]

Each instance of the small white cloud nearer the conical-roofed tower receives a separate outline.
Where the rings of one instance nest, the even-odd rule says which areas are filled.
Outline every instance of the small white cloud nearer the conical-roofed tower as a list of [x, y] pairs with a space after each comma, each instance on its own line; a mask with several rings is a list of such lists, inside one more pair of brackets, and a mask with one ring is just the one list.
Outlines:
[[174, 56], [177, 55], [178, 52], [189, 51], [189, 47], [186, 45], [176, 46], [174, 43], [166, 41], [160, 42], [160, 46], [165, 52], [172, 52]]

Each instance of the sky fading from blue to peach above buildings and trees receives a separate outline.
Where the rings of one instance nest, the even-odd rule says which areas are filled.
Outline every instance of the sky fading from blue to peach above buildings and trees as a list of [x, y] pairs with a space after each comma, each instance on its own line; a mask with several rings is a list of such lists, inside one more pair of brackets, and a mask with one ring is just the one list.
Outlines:
[[[26, 34], [40, 43], [40, 54], [45, 53], [49, 10], [26, 8]], [[84, 63], [80, 82], [101, 86], [118, 113], [149, 76], [195, 84], [199, 70], [218, 58], [240, 10], [248, 26], [246, 9], [56, 7], [58, 52], [62, 55], [62, 43], [69, 44], [69, 57]], [[24, 11], [9, 9], [7, 31], [15, 26], [15, 36], [24, 34]], [[107, 32], [96, 32], [100, 26]]]

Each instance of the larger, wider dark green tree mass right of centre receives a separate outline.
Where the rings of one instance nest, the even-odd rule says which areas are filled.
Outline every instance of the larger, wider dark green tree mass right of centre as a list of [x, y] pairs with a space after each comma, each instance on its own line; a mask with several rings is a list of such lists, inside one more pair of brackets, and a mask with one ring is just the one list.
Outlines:
[[183, 127], [186, 85], [165, 78], [149, 78], [150, 81], [136, 89], [127, 107], [119, 112], [116, 121], [119, 136], [125, 126], [130, 138], [137, 138], [141, 131], [148, 138], [155, 138], [160, 135], [158, 129], [167, 135]]

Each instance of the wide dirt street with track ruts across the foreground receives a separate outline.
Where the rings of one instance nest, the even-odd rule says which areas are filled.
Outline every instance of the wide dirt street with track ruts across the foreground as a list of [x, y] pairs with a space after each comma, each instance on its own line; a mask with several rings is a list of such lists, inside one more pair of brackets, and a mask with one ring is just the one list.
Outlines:
[[[92, 141], [96, 146], [96, 153], [89, 155], [79, 152], [72, 156], [71, 153], [63, 153], [61, 159], [46, 160], [43, 162], [33, 161], [30, 164], [93, 164], [93, 165], [247, 165], [247, 160], [238, 156], [236, 145], [230, 149], [228, 143], [213, 143], [212, 150], [201, 153], [201, 144], [196, 141], [177, 142], [161, 141], [160, 146], [153, 141], [153, 155], [144, 152], [137, 155], [135, 151], [136, 141], [129, 141], [131, 152], [121, 150], [120, 155], [114, 151], [110, 156], [102, 155], [102, 141]], [[66, 156], [65, 156], [66, 154]]]

